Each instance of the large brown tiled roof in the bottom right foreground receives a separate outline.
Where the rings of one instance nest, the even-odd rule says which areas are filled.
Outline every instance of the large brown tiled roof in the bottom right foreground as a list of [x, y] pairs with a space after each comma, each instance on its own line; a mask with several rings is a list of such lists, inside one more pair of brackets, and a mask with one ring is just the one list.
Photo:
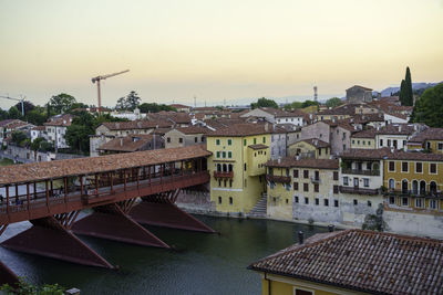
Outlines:
[[372, 294], [441, 294], [443, 241], [346, 230], [316, 234], [249, 270]]

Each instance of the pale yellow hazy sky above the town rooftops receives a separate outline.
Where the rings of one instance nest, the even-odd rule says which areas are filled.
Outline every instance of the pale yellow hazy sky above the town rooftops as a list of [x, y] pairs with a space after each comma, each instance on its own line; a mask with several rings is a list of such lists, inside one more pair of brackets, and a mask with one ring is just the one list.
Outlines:
[[[0, 96], [215, 105], [443, 81], [443, 0], [0, 0]], [[292, 101], [292, 98], [289, 98]], [[0, 107], [13, 102], [0, 98]]]

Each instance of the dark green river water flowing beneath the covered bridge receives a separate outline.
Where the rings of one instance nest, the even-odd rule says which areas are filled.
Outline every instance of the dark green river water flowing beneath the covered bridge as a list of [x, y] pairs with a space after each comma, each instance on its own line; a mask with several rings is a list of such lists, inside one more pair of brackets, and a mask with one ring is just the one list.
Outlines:
[[[80, 236], [119, 271], [76, 265], [0, 247], [0, 260], [38, 284], [59, 283], [82, 294], [260, 294], [259, 274], [246, 270], [254, 261], [308, 238], [324, 228], [269, 220], [196, 215], [219, 234], [148, 226], [175, 250], [143, 247]], [[28, 229], [11, 224], [0, 241]]]

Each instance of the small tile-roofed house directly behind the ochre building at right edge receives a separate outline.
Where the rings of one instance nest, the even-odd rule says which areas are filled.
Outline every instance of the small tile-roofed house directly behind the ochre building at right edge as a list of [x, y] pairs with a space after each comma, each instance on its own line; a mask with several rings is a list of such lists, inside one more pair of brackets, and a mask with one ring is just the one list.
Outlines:
[[443, 128], [427, 128], [408, 141], [408, 149], [443, 154]]

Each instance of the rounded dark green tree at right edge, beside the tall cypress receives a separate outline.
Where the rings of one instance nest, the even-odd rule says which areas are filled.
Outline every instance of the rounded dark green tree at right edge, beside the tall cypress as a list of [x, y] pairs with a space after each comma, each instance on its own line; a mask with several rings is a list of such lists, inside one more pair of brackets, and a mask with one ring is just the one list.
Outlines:
[[443, 83], [427, 88], [415, 102], [412, 122], [424, 123], [430, 127], [443, 127]]

